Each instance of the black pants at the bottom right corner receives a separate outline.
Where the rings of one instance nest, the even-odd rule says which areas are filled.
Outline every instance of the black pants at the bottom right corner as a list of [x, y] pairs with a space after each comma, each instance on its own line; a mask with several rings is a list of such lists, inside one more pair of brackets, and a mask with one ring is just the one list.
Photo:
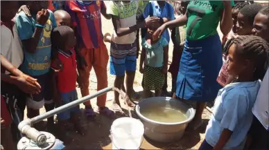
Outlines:
[[252, 139], [250, 149], [269, 149], [269, 131], [264, 128], [255, 115], [249, 134]]

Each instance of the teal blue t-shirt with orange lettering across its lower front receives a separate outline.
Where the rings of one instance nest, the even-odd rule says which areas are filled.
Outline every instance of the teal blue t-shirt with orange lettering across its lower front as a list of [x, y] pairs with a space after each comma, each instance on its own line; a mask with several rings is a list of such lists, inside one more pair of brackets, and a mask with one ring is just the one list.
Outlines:
[[[51, 67], [51, 30], [56, 27], [53, 12], [49, 11], [49, 19], [46, 21], [40, 41], [37, 44], [35, 53], [28, 53], [24, 48], [24, 62], [21, 64], [21, 71], [27, 75], [44, 75]], [[24, 12], [19, 12], [15, 17], [15, 23], [22, 40], [30, 39], [35, 32], [36, 16], [27, 17]]]

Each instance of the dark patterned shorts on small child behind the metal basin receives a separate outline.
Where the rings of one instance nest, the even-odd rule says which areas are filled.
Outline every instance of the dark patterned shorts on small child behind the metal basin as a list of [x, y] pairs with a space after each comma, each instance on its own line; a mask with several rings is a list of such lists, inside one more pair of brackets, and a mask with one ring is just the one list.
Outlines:
[[162, 74], [162, 67], [145, 66], [143, 78], [144, 90], [161, 90], [164, 86], [165, 75]]

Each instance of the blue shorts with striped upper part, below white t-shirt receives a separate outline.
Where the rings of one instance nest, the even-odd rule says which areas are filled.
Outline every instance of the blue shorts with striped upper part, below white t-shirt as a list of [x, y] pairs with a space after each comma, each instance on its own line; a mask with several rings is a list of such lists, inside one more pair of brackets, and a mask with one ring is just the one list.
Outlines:
[[124, 76], [125, 71], [137, 69], [137, 42], [133, 44], [114, 44], [110, 46], [110, 74]]

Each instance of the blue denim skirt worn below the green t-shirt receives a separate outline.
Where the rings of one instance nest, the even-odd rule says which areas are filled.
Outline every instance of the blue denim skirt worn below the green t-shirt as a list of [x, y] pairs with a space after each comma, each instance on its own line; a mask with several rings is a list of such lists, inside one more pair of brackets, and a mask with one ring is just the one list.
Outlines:
[[185, 41], [177, 74], [175, 95], [197, 102], [214, 101], [222, 88], [216, 78], [223, 65], [218, 34], [205, 39]]

